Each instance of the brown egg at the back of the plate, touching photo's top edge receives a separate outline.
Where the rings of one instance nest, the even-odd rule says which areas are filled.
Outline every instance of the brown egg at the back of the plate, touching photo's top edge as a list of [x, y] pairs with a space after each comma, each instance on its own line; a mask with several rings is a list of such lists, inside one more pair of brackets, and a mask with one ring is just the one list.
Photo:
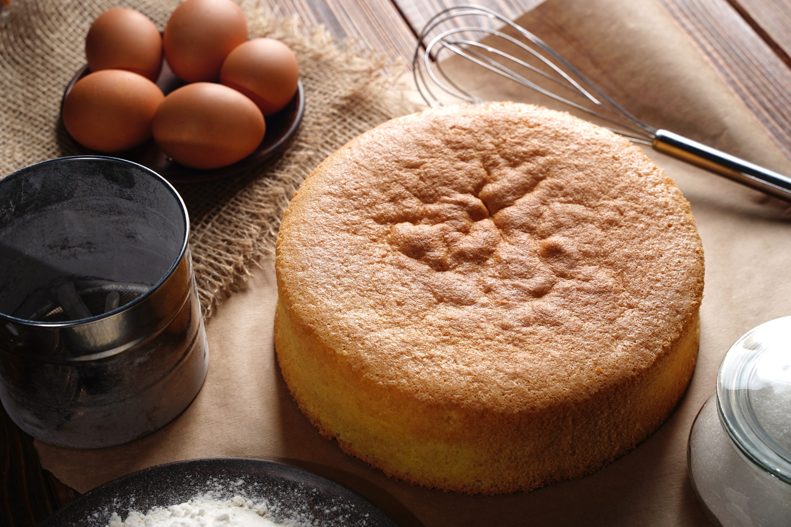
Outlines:
[[231, 0], [187, 0], [165, 27], [165, 58], [184, 81], [214, 81], [225, 57], [245, 40], [244, 13]]

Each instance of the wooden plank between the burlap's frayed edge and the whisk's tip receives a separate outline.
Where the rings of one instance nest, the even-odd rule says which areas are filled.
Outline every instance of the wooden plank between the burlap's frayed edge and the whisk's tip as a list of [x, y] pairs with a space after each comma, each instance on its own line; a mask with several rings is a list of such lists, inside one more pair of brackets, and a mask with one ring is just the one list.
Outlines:
[[324, 24], [338, 40], [353, 39], [361, 51], [411, 59], [416, 39], [390, 0], [271, 0], [284, 17], [298, 15], [308, 27]]

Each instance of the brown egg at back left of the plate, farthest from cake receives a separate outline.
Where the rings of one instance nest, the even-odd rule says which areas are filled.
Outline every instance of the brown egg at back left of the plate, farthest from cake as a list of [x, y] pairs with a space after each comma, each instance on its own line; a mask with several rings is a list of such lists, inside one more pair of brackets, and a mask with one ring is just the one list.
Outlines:
[[110, 9], [91, 24], [85, 56], [91, 71], [127, 70], [156, 81], [162, 66], [162, 37], [143, 13]]

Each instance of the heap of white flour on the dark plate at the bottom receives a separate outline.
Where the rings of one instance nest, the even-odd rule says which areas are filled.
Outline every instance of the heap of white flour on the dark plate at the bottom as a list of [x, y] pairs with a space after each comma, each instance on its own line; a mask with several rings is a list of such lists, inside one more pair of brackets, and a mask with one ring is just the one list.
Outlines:
[[133, 510], [122, 521], [112, 513], [107, 527], [282, 527], [292, 521], [275, 523], [267, 514], [266, 503], [254, 503], [241, 496], [213, 499], [206, 494], [179, 505], [156, 507], [143, 514]]

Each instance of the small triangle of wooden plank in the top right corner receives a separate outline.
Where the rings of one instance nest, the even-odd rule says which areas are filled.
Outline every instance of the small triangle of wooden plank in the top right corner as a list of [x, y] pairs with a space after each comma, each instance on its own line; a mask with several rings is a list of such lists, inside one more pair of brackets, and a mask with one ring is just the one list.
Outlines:
[[728, 0], [766, 45], [791, 68], [791, 0]]

